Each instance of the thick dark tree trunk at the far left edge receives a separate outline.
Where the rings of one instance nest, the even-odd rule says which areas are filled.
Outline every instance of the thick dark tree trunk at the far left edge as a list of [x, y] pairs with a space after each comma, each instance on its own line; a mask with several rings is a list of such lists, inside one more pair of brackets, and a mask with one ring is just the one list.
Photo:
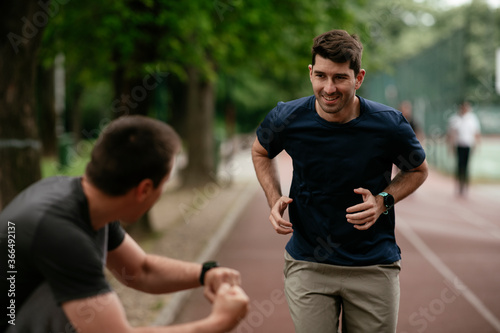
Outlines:
[[48, 20], [37, 1], [0, 5], [0, 209], [41, 177], [35, 73]]

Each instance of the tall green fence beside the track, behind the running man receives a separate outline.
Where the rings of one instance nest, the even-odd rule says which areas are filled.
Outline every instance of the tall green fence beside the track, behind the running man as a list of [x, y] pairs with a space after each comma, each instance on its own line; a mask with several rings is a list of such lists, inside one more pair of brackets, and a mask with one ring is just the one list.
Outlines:
[[[368, 73], [360, 92], [397, 109], [403, 101], [410, 102], [413, 121], [425, 138], [422, 141], [429, 163], [450, 173], [454, 159], [446, 145], [446, 130], [448, 119], [462, 100], [473, 101], [483, 135], [500, 135], [500, 104], [494, 103], [498, 100], [492, 88], [494, 80], [471, 82], [467, 72], [470, 60], [465, 50], [469, 39], [467, 30], [459, 29], [416, 56], [394, 64], [390, 73]], [[491, 61], [494, 64], [493, 56]]]

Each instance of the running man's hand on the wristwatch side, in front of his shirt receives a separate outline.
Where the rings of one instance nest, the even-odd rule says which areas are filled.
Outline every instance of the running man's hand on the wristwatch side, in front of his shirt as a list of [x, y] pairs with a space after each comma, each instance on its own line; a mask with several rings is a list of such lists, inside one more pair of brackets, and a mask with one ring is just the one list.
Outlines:
[[354, 193], [361, 194], [363, 202], [347, 208], [347, 222], [354, 224], [354, 228], [358, 230], [368, 230], [384, 212], [383, 198], [377, 198], [361, 187], [355, 189]]

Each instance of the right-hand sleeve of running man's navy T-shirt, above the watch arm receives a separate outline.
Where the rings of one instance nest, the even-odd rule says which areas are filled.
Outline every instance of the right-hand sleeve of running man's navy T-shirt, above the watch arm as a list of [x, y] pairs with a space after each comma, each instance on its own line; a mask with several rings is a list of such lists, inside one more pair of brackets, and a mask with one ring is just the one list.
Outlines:
[[403, 115], [398, 117], [392, 141], [393, 163], [399, 169], [408, 171], [424, 162], [425, 151]]

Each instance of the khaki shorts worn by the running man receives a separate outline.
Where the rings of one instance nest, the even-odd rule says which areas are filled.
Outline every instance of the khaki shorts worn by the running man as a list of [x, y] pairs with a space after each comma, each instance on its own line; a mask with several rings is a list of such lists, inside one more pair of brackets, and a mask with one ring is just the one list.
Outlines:
[[[293, 259], [285, 251], [285, 293], [296, 333], [394, 333], [400, 261], [335, 266]], [[342, 318], [339, 324], [339, 318]]]

